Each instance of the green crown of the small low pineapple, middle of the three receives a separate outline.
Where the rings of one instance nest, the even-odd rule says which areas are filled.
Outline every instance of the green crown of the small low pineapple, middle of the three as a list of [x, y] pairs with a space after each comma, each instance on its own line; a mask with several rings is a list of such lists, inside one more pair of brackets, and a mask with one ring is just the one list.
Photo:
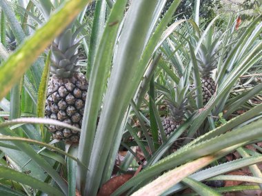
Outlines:
[[165, 101], [168, 103], [170, 109], [170, 115], [176, 120], [183, 119], [185, 110], [188, 104], [188, 89], [189, 85], [185, 85], [183, 77], [179, 81], [179, 85], [174, 88], [168, 83], [169, 92], [163, 92], [165, 95]]

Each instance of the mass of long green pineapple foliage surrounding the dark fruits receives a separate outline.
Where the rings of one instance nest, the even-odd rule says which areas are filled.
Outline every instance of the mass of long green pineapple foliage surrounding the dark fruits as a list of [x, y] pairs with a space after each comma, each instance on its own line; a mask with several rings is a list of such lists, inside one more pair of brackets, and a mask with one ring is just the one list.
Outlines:
[[[12, 9], [13, 1], [0, 1], [5, 12], [1, 12], [1, 40], [12, 29], [18, 45], [12, 54], [6, 52], [7, 46], [0, 47], [0, 57], [5, 59], [0, 66], [0, 177], [5, 178], [0, 179], [0, 193], [97, 195], [112, 175], [140, 168], [112, 195], [125, 191], [126, 195], [146, 195], [152, 190], [156, 194], [156, 187], [163, 195], [179, 195], [188, 186], [200, 195], [258, 188], [214, 189], [202, 182], [236, 180], [221, 175], [250, 166], [254, 177], [240, 178], [261, 184], [255, 164], [262, 162], [261, 148], [256, 145], [262, 138], [262, 85], [254, 81], [256, 73], [261, 74], [261, 15], [239, 30], [234, 28], [236, 16], [219, 28], [216, 20], [223, 17], [214, 17], [219, 1], [201, 1], [200, 19], [195, 15], [194, 21], [179, 20], [168, 26], [175, 10], [190, 18], [194, 2], [168, 1], [170, 9], [161, 20], [163, 1], [132, 0], [127, 12], [127, 0], [99, 1], [94, 14], [86, 14], [88, 2], [15, 1], [18, 12]], [[88, 53], [87, 62], [77, 63], [89, 79], [81, 130], [41, 118], [48, 65], [55, 58], [52, 51], [48, 53], [49, 46], [73, 20], [76, 28], [84, 26], [75, 43]], [[31, 65], [35, 59], [38, 63]], [[212, 65], [214, 70], [208, 74], [213, 73], [217, 85], [205, 106], [200, 64]], [[242, 79], [243, 75], [251, 76]], [[161, 124], [167, 99], [173, 109], [183, 108], [177, 115], [183, 123], [168, 138]], [[234, 116], [243, 108], [245, 113]], [[50, 140], [43, 125], [81, 131], [80, 143], [69, 146]], [[174, 144], [179, 145], [173, 152]], [[256, 150], [245, 148], [246, 144], [254, 144]], [[119, 149], [128, 152], [119, 153]], [[233, 150], [241, 158], [221, 163]], [[116, 161], [120, 154], [126, 155]]]

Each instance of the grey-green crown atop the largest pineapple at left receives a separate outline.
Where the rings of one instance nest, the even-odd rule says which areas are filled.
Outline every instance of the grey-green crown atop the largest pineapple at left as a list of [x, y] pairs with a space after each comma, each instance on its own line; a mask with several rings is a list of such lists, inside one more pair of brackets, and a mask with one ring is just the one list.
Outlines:
[[77, 62], [80, 54], [77, 49], [79, 48], [81, 39], [77, 39], [77, 35], [83, 26], [74, 32], [72, 26], [70, 24], [52, 43], [50, 72], [57, 77], [72, 77], [74, 72], [77, 72], [79, 69]]

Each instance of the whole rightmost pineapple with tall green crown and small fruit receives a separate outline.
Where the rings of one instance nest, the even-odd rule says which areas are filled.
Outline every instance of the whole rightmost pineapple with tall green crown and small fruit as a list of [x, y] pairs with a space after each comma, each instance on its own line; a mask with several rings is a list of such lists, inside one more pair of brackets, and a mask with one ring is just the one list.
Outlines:
[[[199, 37], [195, 37], [196, 43]], [[207, 104], [214, 92], [216, 92], [216, 84], [212, 79], [212, 71], [216, 68], [219, 45], [219, 37], [214, 34], [214, 27], [210, 28], [208, 35], [203, 39], [201, 46], [196, 53], [199, 72], [201, 73], [201, 87], [203, 93], [203, 104]]]

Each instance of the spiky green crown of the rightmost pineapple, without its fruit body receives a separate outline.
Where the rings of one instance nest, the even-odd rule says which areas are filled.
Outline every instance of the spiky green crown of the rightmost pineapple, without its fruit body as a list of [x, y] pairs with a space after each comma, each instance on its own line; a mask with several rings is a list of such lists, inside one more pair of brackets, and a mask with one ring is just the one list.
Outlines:
[[221, 44], [221, 37], [214, 33], [214, 26], [206, 32], [206, 35], [194, 35], [193, 37], [196, 46], [200, 43], [199, 50], [196, 53], [196, 60], [199, 65], [199, 72], [202, 76], [211, 75], [212, 70], [216, 68], [218, 52]]

